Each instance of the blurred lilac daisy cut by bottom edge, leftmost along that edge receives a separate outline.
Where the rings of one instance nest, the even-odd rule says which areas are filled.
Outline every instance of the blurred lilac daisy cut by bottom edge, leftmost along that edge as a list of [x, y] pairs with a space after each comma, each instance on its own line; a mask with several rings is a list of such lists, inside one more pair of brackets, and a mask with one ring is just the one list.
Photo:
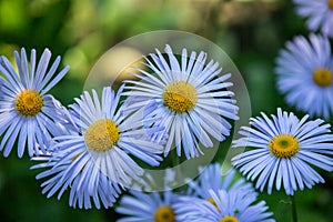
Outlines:
[[175, 222], [173, 204], [176, 195], [172, 191], [143, 193], [131, 191], [131, 195], [123, 195], [115, 212], [127, 216], [118, 222], [155, 221]]

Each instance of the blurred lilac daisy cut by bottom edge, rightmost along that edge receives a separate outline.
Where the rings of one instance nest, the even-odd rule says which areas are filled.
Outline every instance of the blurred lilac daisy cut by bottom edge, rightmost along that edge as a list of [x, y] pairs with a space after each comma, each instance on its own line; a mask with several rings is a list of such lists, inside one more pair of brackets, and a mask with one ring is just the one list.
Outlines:
[[176, 220], [182, 222], [273, 222], [264, 201], [256, 202], [256, 194], [241, 190], [209, 190], [214, 204], [191, 196], [179, 198], [174, 204]]

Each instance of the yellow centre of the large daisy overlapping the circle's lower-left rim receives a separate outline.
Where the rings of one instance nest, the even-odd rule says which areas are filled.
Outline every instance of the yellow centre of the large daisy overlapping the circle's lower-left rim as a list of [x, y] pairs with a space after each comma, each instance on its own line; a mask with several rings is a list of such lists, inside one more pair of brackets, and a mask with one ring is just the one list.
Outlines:
[[120, 137], [119, 128], [112, 120], [97, 120], [89, 125], [84, 134], [85, 144], [94, 151], [108, 151]]

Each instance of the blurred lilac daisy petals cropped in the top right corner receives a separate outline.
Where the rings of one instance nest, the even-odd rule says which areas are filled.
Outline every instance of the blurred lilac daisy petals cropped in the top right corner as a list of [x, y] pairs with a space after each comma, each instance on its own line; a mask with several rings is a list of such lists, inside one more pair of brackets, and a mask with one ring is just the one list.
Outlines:
[[321, 30], [322, 33], [333, 37], [333, 0], [293, 0], [296, 12], [307, 18], [306, 26], [311, 31]]

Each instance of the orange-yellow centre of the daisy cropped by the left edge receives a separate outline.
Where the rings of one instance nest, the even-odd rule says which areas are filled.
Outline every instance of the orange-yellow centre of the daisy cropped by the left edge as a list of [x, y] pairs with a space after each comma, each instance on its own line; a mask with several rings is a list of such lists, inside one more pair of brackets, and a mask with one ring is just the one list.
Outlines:
[[22, 90], [14, 101], [16, 110], [24, 117], [37, 115], [43, 107], [43, 98], [34, 90]]

